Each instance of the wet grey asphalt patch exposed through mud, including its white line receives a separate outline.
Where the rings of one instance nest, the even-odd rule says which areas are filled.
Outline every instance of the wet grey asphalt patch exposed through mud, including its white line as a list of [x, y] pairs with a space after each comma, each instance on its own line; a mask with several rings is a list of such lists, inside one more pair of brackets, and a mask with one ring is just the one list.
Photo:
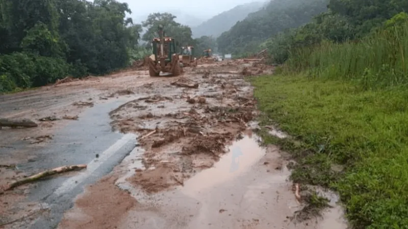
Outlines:
[[[27, 201], [47, 206], [50, 214], [41, 216], [31, 227], [55, 228], [63, 213], [73, 206], [74, 198], [84, 187], [110, 173], [136, 145], [136, 136], [112, 131], [109, 112], [123, 101], [97, 104], [84, 111], [78, 121], [56, 132], [47, 147], [35, 152], [37, 158], [19, 169], [46, 170], [63, 165], [88, 164], [74, 176], [59, 176], [36, 182]], [[98, 155], [98, 156], [96, 156]]]

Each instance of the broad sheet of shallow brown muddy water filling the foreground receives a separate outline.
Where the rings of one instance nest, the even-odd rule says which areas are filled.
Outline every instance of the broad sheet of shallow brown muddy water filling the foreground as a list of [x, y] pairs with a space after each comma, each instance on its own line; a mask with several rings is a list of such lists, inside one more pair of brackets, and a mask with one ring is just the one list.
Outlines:
[[[287, 162], [276, 147], [261, 148], [258, 140], [245, 135], [234, 141], [213, 167], [169, 191], [146, 194], [119, 179], [116, 184], [139, 204], [118, 228], [347, 228], [336, 195], [323, 190], [334, 208], [302, 223], [291, 220], [303, 205], [288, 182]], [[125, 177], [144, 169], [141, 154], [134, 150], [125, 159], [131, 170]]]

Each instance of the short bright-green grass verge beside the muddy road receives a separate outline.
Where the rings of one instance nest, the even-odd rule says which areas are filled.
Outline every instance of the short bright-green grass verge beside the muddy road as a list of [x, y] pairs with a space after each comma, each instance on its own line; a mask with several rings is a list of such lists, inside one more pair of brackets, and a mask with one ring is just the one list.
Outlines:
[[264, 138], [293, 153], [299, 162], [294, 180], [339, 191], [355, 227], [407, 228], [405, 87], [361, 90], [302, 73], [257, 77], [252, 84], [264, 112], [261, 124], [277, 123], [294, 137]]

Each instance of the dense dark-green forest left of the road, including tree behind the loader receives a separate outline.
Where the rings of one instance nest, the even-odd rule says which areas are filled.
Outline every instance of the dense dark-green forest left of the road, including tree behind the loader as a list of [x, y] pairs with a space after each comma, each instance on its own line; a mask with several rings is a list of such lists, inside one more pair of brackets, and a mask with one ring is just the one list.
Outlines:
[[0, 0], [0, 93], [130, 66], [151, 53], [148, 41], [160, 23], [177, 47], [215, 47], [212, 38], [193, 40], [191, 28], [172, 14], [152, 13], [134, 24], [126, 13], [127, 4], [115, 0]]

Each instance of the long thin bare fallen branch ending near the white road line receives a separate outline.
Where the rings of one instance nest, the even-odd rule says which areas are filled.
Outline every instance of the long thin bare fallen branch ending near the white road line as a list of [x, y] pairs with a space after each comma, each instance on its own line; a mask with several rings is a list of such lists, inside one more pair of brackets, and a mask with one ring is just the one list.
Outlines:
[[35, 175], [31, 176], [31, 177], [23, 178], [21, 180], [18, 180], [16, 182], [11, 183], [9, 185], [9, 187], [5, 189], [5, 191], [11, 190], [11, 189], [13, 189], [15, 187], [18, 187], [20, 185], [23, 185], [23, 184], [27, 184], [27, 183], [31, 183], [31, 182], [40, 180], [40, 179], [45, 178], [45, 177], [53, 176], [53, 175], [56, 175], [56, 174], [66, 173], [68, 171], [80, 170], [80, 169], [84, 169], [86, 167], [87, 167], [86, 164], [67, 165], [67, 166], [61, 166], [61, 167], [53, 168], [53, 169], [50, 169], [50, 170], [42, 171], [41, 173], [35, 174]]

